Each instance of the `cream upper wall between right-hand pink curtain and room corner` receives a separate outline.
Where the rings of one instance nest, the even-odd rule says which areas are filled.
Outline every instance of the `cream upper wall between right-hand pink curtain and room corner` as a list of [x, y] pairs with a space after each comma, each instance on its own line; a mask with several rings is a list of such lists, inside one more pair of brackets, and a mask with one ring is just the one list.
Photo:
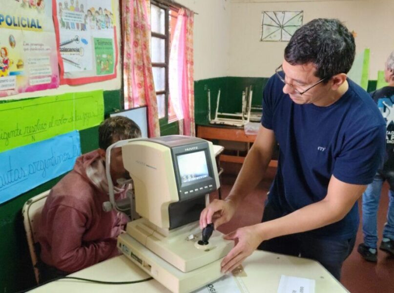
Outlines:
[[230, 44], [229, 0], [177, 0], [194, 15], [194, 80], [228, 75]]

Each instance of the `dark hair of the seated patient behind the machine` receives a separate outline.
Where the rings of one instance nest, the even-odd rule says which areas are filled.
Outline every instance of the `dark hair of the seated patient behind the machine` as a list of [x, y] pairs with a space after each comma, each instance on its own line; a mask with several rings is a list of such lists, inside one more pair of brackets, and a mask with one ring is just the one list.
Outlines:
[[119, 140], [137, 137], [141, 137], [141, 129], [127, 117], [114, 116], [107, 118], [99, 127], [99, 146], [104, 150]]

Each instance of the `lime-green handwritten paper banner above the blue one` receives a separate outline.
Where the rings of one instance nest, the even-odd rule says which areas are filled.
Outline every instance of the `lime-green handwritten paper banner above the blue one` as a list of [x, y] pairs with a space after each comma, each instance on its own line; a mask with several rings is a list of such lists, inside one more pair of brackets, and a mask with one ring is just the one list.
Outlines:
[[102, 90], [0, 104], [0, 151], [97, 126], [103, 120]]

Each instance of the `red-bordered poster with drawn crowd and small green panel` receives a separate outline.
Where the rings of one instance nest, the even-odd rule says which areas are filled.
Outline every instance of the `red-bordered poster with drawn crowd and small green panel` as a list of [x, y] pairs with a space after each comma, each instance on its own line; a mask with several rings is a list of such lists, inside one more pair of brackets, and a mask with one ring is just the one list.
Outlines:
[[113, 0], [53, 0], [61, 84], [116, 78]]

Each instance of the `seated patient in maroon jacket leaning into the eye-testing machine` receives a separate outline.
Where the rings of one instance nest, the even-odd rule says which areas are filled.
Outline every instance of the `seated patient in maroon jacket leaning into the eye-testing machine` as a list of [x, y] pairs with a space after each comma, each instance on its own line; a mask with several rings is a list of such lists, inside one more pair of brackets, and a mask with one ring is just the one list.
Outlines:
[[[137, 137], [141, 130], [132, 120], [121, 116], [106, 119], [99, 127], [100, 148], [80, 156], [74, 169], [51, 189], [39, 227], [41, 281], [118, 255], [116, 238], [127, 217], [102, 208], [109, 200], [105, 150], [119, 140]], [[110, 172], [115, 198], [120, 199], [128, 184], [119, 185], [117, 180], [130, 178], [123, 166], [122, 148], [112, 149]]]

